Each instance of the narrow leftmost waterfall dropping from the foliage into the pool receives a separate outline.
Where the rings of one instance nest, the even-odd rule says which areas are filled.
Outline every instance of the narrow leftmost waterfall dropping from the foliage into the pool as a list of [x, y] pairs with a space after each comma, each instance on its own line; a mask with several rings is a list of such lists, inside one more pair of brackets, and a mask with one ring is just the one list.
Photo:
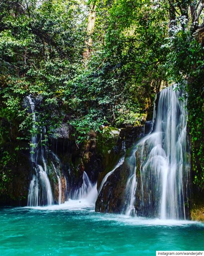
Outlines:
[[[35, 104], [31, 96], [27, 96], [27, 100], [30, 105], [31, 113], [33, 116], [33, 130], [36, 126], [36, 116], [35, 116]], [[42, 138], [42, 134], [40, 139]], [[51, 185], [47, 175], [47, 164], [44, 158], [44, 150], [42, 147], [38, 146], [37, 136], [32, 135], [31, 137], [31, 153], [30, 153], [30, 162], [33, 166], [34, 174], [32, 180], [29, 184], [29, 191], [27, 197], [28, 206], [39, 206], [53, 203], [53, 195], [51, 190]], [[40, 152], [40, 156], [38, 153]], [[41, 165], [42, 163], [43, 165]]]

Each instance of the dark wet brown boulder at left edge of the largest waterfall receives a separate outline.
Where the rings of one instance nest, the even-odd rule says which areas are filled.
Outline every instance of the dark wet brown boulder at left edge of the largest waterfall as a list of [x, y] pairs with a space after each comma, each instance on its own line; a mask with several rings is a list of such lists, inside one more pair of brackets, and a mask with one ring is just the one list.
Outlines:
[[[122, 136], [121, 136], [122, 135]], [[135, 139], [141, 138], [143, 135], [143, 127], [128, 127], [128, 130], [121, 130], [120, 136], [124, 139], [125, 145], [131, 146]], [[124, 152], [121, 151], [121, 156]], [[130, 158], [132, 157], [132, 150], [130, 149], [126, 154], [126, 159], [123, 164], [114, 170], [108, 176], [106, 182], [103, 184], [101, 191], [99, 191], [98, 198], [96, 200], [95, 210], [96, 212], [114, 212], [125, 213], [128, 207], [128, 193], [126, 191], [126, 184], [128, 177], [130, 176], [133, 166], [131, 166]], [[118, 161], [119, 159], [117, 159]], [[116, 164], [116, 162], [115, 162]], [[113, 167], [112, 167], [113, 168]], [[110, 172], [111, 169], [108, 170]], [[108, 173], [107, 170], [102, 173], [102, 178]], [[102, 181], [98, 182], [98, 188]], [[98, 179], [99, 180], [99, 179]], [[136, 176], [135, 176], [136, 180]]]

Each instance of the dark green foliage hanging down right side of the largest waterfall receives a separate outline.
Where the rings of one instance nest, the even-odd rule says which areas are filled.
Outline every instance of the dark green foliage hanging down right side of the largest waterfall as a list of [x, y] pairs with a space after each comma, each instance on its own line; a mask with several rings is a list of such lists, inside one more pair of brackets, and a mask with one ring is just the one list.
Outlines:
[[204, 48], [190, 30], [180, 26], [181, 22], [187, 26], [187, 20], [179, 20], [164, 45], [171, 49], [165, 67], [170, 82], [177, 82], [188, 94], [194, 184], [204, 190]]

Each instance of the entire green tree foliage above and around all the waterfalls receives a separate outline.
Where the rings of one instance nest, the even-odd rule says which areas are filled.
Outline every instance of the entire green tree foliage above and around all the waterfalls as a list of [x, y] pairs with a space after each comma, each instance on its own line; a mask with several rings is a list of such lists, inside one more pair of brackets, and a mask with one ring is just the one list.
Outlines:
[[0, 75], [0, 144], [29, 143], [36, 134], [46, 144], [62, 122], [73, 127], [77, 143], [102, 124], [141, 124], [155, 93], [177, 82], [188, 93], [192, 165], [196, 184], [204, 188], [204, 50], [194, 36], [203, 14], [189, 18], [193, 8], [202, 6], [171, 0], [2, 0], [0, 56], [20, 68], [20, 77]]

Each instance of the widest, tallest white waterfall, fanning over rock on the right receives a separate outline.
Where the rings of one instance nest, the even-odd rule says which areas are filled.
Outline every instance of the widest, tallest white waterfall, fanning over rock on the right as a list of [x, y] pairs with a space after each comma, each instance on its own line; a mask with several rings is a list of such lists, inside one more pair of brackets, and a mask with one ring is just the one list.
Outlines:
[[186, 218], [190, 157], [187, 100], [171, 86], [161, 91], [153, 131], [141, 139], [129, 158], [123, 212], [162, 219]]

